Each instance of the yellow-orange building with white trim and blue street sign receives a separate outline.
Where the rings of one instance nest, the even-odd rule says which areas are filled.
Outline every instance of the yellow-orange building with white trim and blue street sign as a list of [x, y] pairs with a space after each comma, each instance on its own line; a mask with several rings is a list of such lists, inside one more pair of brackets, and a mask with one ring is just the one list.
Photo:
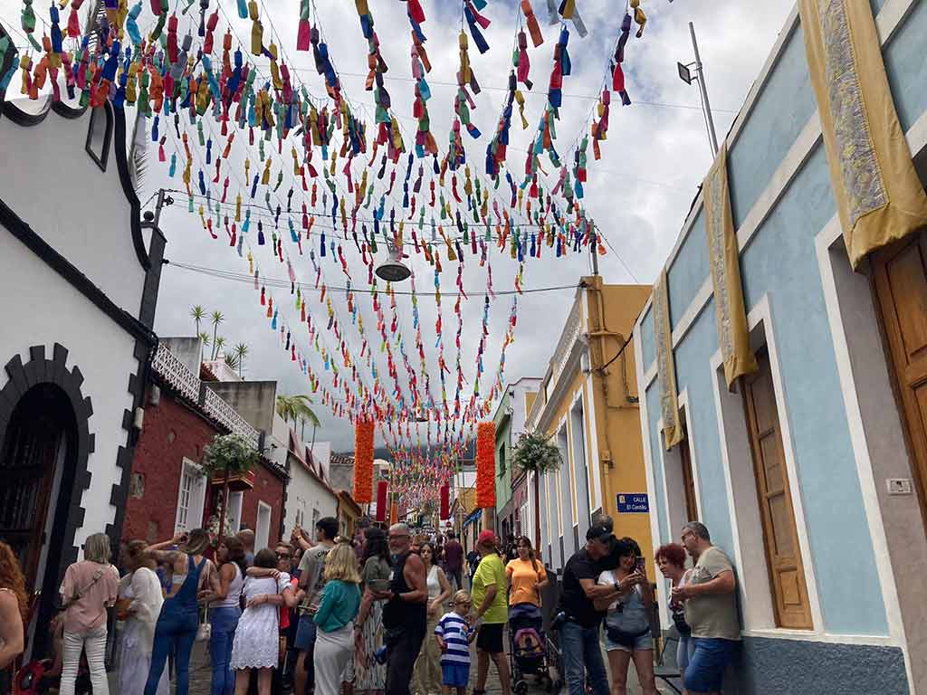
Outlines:
[[[637, 540], [654, 576], [631, 329], [651, 288], [583, 278], [528, 413], [527, 430], [552, 437], [560, 470], [533, 475], [540, 551], [560, 569], [585, 543], [591, 520], [611, 516], [619, 537]], [[537, 489], [537, 495], [535, 490]], [[619, 500], [622, 511], [619, 511]], [[534, 534], [532, 534], [534, 535]]]

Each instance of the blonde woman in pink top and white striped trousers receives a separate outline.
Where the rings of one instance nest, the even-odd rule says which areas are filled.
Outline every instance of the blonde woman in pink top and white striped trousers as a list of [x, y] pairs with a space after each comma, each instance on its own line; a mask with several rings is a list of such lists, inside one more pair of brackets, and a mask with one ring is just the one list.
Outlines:
[[94, 534], [83, 543], [83, 562], [74, 562], [64, 574], [61, 600], [64, 613], [64, 667], [60, 695], [74, 695], [81, 652], [87, 651], [94, 695], [108, 695], [107, 609], [119, 592], [119, 571], [109, 564], [109, 537]]

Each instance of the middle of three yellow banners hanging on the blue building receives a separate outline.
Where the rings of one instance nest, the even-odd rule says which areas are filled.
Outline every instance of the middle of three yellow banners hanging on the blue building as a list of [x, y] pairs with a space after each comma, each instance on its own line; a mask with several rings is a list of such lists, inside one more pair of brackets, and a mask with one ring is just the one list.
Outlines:
[[750, 348], [747, 315], [743, 309], [741, 263], [737, 234], [730, 211], [728, 188], [728, 145], [721, 145], [715, 163], [702, 187], [705, 200], [705, 233], [708, 236], [708, 263], [715, 291], [717, 340], [724, 360], [724, 378], [731, 388], [738, 376], [758, 369]]

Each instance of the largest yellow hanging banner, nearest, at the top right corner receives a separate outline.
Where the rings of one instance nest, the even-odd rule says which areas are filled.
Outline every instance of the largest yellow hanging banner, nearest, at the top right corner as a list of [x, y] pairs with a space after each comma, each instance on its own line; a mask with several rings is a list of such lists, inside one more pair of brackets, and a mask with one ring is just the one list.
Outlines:
[[872, 251], [927, 225], [927, 196], [895, 112], [870, 3], [800, 0], [798, 7], [846, 250], [857, 269]]

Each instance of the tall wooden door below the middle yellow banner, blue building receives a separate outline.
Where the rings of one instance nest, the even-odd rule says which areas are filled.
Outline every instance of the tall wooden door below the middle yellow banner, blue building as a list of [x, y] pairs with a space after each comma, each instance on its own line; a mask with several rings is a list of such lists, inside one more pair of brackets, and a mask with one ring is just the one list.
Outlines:
[[795, 530], [789, 476], [785, 467], [779, 412], [766, 349], [756, 355], [759, 371], [744, 379], [743, 399], [753, 450], [756, 498], [763, 523], [763, 542], [776, 625], [811, 629], [805, 570]]

